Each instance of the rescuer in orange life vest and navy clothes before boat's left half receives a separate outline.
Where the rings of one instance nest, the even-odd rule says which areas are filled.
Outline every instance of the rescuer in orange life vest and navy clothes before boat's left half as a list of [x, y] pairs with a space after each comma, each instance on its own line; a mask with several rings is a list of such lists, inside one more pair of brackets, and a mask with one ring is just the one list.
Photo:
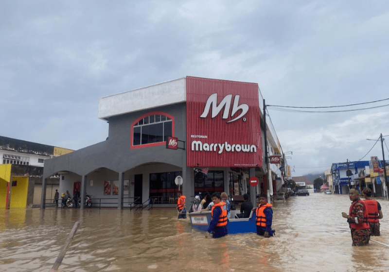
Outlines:
[[215, 192], [212, 194], [212, 221], [205, 233], [205, 238], [208, 238], [210, 233], [212, 238], [220, 238], [228, 234], [227, 230], [227, 206], [223, 201], [220, 201], [220, 194]]

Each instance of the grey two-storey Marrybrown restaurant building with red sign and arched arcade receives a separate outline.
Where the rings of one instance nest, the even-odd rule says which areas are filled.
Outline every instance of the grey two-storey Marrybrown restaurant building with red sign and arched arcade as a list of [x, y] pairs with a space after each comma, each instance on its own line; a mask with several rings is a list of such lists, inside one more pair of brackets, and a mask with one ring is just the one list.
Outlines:
[[56, 173], [60, 193], [80, 190], [94, 205], [118, 209], [138, 198], [174, 206], [177, 176], [187, 208], [200, 192], [266, 191], [262, 103], [256, 83], [189, 76], [101, 98], [107, 139], [45, 160], [41, 208]]

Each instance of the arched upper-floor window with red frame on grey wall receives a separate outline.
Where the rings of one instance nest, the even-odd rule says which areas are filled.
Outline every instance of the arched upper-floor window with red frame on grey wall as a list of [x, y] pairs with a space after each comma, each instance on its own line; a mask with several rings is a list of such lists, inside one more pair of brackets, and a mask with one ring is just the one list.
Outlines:
[[151, 112], [136, 119], [131, 125], [131, 148], [163, 145], [174, 136], [174, 118], [163, 112]]

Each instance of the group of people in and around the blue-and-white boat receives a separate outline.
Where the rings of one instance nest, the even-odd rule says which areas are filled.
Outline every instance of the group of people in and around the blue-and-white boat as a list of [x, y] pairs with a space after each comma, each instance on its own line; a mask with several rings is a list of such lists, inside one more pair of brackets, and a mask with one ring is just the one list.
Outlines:
[[[177, 196], [178, 219], [186, 218], [185, 196], [181, 192], [178, 192]], [[265, 238], [272, 237], [275, 232], [271, 228], [273, 210], [271, 208], [272, 204], [267, 203], [267, 196], [265, 194], [260, 195], [257, 208], [253, 208], [248, 194], [244, 194], [243, 198], [245, 202], [241, 204], [241, 213], [235, 218], [248, 218], [251, 211], [255, 211], [257, 234]], [[189, 212], [211, 210], [212, 221], [205, 237], [208, 238], [209, 234], [212, 234], [212, 238], [220, 238], [228, 234], [227, 219], [230, 218], [230, 207], [231, 204], [227, 193], [222, 192], [220, 194], [215, 192], [212, 194], [212, 197], [210, 194], [206, 194], [201, 201], [199, 196], [195, 196], [194, 203], [191, 205]]]

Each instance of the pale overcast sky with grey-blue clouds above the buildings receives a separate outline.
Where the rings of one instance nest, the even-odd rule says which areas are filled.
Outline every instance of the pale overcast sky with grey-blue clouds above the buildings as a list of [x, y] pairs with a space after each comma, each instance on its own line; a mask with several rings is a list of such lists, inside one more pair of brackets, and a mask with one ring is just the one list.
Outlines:
[[[0, 136], [77, 150], [108, 135], [100, 98], [185, 76], [258, 83], [268, 105], [383, 100], [388, 45], [388, 0], [3, 0]], [[327, 110], [379, 105], [269, 106], [292, 176], [382, 159], [366, 139], [389, 135], [389, 100]]]

